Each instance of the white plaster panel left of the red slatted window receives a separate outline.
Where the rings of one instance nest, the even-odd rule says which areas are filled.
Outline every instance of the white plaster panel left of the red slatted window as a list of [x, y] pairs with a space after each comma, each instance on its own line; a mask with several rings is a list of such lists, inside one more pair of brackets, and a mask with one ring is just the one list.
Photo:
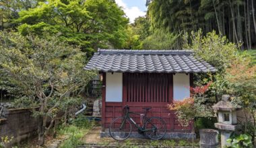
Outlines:
[[123, 73], [106, 73], [106, 102], [122, 102]]

